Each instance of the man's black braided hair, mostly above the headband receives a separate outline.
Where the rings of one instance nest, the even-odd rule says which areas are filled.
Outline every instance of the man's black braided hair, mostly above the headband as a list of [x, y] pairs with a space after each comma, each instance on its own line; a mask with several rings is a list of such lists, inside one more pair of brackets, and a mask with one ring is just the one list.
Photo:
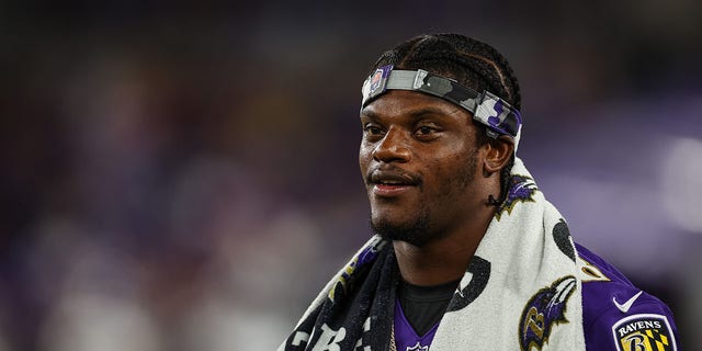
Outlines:
[[[492, 46], [461, 34], [431, 34], [412, 37], [385, 52], [371, 72], [393, 65], [397, 69], [423, 69], [453, 78], [476, 91], [487, 90], [517, 110], [521, 109], [519, 83], [507, 59]], [[501, 143], [487, 136], [486, 126], [476, 124], [478, 146]], [[501, 203], [510, 185], [514, 155], [500, 171]]]

